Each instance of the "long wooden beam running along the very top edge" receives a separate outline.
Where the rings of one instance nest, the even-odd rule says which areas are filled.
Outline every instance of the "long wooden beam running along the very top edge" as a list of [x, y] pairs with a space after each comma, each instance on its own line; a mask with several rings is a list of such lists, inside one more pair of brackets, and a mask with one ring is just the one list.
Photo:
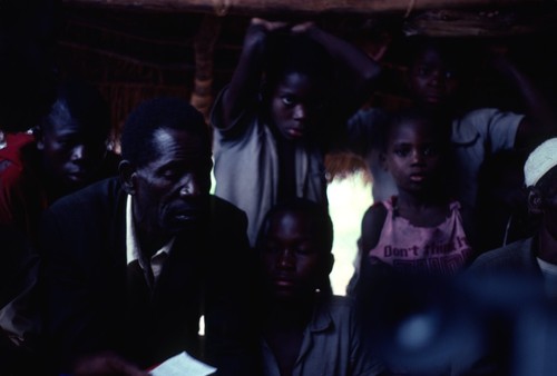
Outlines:
[[127, 8], [167, 12], [205, 12], [217, 16], [317, 14], [452, 9], [472, 7], [509, 7], [540, 4], [545, 0], [62, 0], [66, 4]]

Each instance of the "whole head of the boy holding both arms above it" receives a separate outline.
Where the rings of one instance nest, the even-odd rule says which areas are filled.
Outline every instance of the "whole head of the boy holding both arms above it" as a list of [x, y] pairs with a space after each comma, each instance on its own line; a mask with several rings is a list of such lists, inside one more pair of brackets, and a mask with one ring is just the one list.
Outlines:
[[276, 36], [268, 46], [262, 88], [267, 118], [287, 140], [316, 131], [333, 90], [331, 56], [303, 36]]

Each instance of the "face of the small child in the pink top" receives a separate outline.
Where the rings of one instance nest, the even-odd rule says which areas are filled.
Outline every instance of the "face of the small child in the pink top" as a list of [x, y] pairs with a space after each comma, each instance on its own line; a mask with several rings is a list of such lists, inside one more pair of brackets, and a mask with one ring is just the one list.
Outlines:
[[407, 120], [393, 126], [384, 166], [399, 190], [422, 191], [437, 180], [441, 166], [440, 145], [431, 125]]

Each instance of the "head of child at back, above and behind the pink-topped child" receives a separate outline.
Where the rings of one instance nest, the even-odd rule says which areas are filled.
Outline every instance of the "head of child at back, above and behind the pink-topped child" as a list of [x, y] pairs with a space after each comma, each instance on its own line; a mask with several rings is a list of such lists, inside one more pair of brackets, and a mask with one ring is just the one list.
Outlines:
[[416, 37], [409, 42], [408, 88], [423, 107], [453, 105], [462, 82], [465, 53], [449, 40]]

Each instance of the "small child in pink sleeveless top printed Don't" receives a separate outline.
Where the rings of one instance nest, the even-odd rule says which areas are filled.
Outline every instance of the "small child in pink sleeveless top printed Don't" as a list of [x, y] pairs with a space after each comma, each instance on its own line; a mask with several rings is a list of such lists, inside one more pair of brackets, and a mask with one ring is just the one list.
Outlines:
[[379, 266], [404, 275], [449, 276], [470, 260], [462, 210], [450, 199], [443, 174], [450, 159], [447, 129], [416, 110], [391, 120], [381, 160], [399, 195], [373, 205], [363, 217], [360, 283]]

